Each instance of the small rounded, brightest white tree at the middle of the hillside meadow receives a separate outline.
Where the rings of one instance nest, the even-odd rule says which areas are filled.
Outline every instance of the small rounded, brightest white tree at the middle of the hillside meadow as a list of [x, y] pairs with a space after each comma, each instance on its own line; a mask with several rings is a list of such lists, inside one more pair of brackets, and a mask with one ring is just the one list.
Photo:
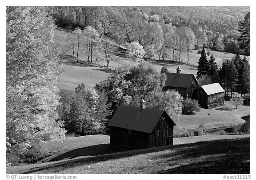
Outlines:
[[146, 54], [146, 52], [143, 50], [143, 47], [140, 45], [139, 42], [131, 42], [127, 49], [129, 51], [128, 56], [134, 61], [139, 62], [143, 61], [143, 57]]

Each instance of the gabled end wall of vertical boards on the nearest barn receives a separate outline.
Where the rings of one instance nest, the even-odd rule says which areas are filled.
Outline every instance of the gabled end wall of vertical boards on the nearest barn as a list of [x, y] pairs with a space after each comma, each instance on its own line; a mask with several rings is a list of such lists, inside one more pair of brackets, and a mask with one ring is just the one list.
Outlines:
[[162, 116], [150, 134], [150, 147], [173, 145], [173, 125]]

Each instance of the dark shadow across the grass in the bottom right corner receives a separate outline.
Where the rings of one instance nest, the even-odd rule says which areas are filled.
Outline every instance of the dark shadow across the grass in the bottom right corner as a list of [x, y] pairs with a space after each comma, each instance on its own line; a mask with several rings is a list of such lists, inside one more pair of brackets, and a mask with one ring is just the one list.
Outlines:
[[[225, 145], [227, 143], [227, 146]], [[199, 144], [196, 148], [181, 149], [173, 159], [164, 154], [156, 158], [170, 161], [188, 159], [185, 163], [166, 168], [158, 174], [250, 174], [250, 138], [244, 140], [224, 140]], [[200, 158], [202, 160], [200, 160]], [[176, 162], [177, 163], [177, 162]], [[175, 164], [173, 164], [175, 166]]]

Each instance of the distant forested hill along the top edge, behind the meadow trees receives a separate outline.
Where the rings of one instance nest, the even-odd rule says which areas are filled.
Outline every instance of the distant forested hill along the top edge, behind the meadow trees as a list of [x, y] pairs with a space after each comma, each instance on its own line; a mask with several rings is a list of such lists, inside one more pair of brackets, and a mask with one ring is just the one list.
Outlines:
[[[243, 22], [248, 11], [250, 11], [248, 6], [49, 7], [49, 12], [56, 19], [56, 24], [59, 27], [71, 30], [80, 27], [83, 30], [84, 27], [91, 26], [117, 44], [136, 41], [145, 50], [154, 49], [160, 52], [160, 56], [168, 54], [162, 48], [163, 45], [168, 47], [167, 34], [170, 31], [184, 31], [182, 28], [187, 28], [187, 31], [192, 32], [189, 39], [192, 40], [195, 48], [204, 45], [208, 49], [236, 54], [242, 41], [239, 31], [240, 22]], [[152, 37], [151, 34], [156, 37]], [[184, 33], [177, 34], [178, 37], [173, 37], [173, 40], [181, 39], [181, 36], [184, 36]], [[156, 39], [158, 42], [159, 39], [162, 40], [157, 47], [154, 44]], [[181, 45], [182, 43], [186, 43], [186, 40], [177, 44]], [[177, 50], [179, 47], [176, 46], [174, 49]], [[185, 49], [186, 47], [183, 48], [183, 51]], [[244, 52], [244, 46], [240, 49], [240, 54], [249, 55], [248, 52]], [[169, 57], [171, 53], [169, 53]], [[177, 59], [177, 55], [174, 56]]]

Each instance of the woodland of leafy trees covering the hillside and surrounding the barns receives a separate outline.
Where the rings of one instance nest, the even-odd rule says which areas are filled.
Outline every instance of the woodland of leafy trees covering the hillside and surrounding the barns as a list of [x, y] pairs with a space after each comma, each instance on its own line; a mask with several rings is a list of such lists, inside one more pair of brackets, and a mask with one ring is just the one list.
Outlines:
[[[59, 90], [60, 56], [67, 49], [53, 46], [57, 27], [68, 31], [67, 49], [76, 59], [83, 48], [87, 61], [109, 64], [122, 45], [136, 63], [117, 68], [92, 89], [81, 83], [73, 91]], [[237, 56], [209, 73], [212, 57], [198, 78], [216, 75], [227, 88], [249, 92], [248, 61], [239, 54], [250, 55], [250, 7], [7, 6], [6, 165], [38, 161], [44, 142], [61, 141], [67, 133], [108, 134], [105, 125], [117, 108], [138, 105], [141, 95], [148, 107], [164, 109], [177, 122], [183, 98], [163, 92], [165, 74], [144, 60], [180, 61], [184, 53], [189, 60], [192, 50], [201, 49], [203, 60], [204, 48]], [[231, 74], [235, 69], [239, 78]], [[234, 85], [245, 77], [245, 89]]]

